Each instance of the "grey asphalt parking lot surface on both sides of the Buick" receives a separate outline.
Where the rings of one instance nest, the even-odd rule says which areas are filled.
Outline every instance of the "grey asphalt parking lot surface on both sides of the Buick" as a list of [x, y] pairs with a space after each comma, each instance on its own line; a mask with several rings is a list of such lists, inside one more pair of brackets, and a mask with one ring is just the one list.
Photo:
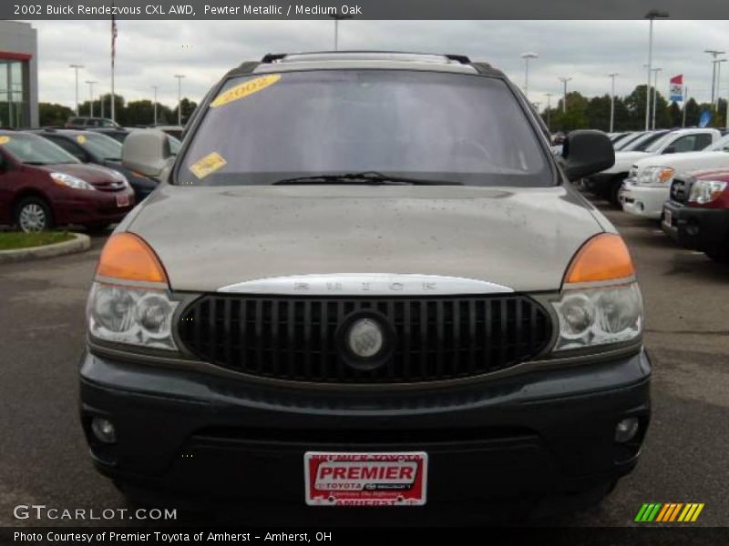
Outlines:
[[[703, 502], [697, 524], [729, 525], [729, 267], [676, 248], [655, 223], [599, 205], [627, 239], [642, 282], [654, 413], [637, 470], [601, 506], [557, 523], [630, 525], [643, 502], [657, 501]], [[0, 266], [2, 526], [73, 524], [15, 520], [18, 504], [126, 507], [93, 470], [77, 422], [84, 305], [103, 242]]]

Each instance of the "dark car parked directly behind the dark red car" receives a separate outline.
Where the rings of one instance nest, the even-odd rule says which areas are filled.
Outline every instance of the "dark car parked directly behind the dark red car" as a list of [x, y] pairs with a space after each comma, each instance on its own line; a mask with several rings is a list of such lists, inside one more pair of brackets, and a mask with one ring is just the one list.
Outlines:
[[121, 164], [121, 144], [109, 136], [92, 131], [75, 129], [31, 129], [29, 132], [43, 136], [82, 163], [95, 163], [117, 171], [126, 177], [137, 202], [149, 196], [157, 187], [157, 181], [145, 177]]

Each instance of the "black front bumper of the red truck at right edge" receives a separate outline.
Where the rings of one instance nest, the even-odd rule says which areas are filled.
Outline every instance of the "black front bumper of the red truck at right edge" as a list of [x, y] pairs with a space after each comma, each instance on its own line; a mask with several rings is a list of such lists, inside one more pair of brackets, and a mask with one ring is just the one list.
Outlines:
[[663, 231], [683, 248], [713, 253], [729, 240], [729, 210], [686, 207], [682, 203], [668, 201], [663, 211]]

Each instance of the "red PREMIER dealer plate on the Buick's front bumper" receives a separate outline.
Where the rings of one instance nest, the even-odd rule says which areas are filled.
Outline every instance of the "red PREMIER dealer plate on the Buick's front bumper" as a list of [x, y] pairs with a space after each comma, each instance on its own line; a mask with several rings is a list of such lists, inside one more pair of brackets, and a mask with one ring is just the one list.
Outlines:
[[303, 455], [309, 506], [422, 506], [427, 453], [325, 453]]

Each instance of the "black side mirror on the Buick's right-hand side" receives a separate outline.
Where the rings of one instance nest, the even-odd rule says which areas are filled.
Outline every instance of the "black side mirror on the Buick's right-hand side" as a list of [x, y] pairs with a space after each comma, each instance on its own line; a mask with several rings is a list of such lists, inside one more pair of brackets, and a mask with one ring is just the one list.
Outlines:
[[574, 182], [599, 173], [615, 164], [615, 150], [602, 131], [572, 131], [562, 145], [562, 170]]

